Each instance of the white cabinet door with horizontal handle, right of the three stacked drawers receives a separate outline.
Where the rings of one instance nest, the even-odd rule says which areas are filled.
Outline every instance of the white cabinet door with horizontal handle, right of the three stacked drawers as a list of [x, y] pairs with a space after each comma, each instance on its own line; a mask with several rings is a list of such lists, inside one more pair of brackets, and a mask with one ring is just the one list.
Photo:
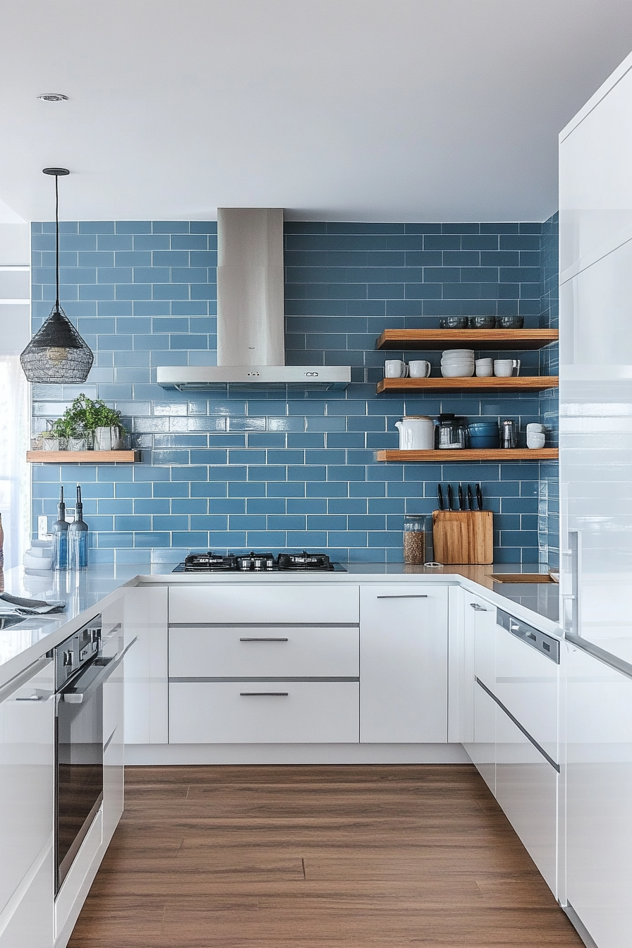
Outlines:
[[447, 741], [447, 588], [360, 590], [360, 741]]

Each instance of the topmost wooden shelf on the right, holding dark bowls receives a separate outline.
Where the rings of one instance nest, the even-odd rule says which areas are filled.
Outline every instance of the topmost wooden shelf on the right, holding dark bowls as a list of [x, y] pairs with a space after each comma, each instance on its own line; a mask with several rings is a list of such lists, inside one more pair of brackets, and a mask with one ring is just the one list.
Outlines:
[[386, 329], [377, 349], [542, 349], [557, 342], [556, 329]]

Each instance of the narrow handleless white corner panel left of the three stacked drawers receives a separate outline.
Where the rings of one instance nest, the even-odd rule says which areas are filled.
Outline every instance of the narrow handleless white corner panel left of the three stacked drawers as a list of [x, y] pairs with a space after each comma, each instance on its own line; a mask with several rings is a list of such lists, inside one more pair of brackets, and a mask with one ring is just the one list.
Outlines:
[[125, 590], [125, 743], [169, 739], [168, 611], [166, 586]]

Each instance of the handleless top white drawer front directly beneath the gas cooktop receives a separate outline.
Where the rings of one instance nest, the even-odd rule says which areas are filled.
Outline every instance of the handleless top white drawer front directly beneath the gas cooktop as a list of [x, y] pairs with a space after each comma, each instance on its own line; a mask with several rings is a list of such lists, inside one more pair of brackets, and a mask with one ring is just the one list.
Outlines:
[[169, 590], [170, 622], [310, 623], [359, 621], [357, 586], [315, 582], [262, 581], [243, 585], [172, 586]]

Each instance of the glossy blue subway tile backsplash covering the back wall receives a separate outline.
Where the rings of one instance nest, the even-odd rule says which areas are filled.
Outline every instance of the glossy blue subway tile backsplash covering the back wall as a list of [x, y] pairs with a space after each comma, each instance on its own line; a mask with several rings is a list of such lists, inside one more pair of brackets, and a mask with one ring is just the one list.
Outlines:
[[[327, 548], [343, 561], [401, 561], [405, 513], [430, 513], [437, 483], [483, 483], [495, 558], [554, 565], [556, 465], [385, 465], [402, 413], [513, 417], [557, 428], [556, 392], [501, 401], [376, 395], [386, 328], [441, 316], [520, 314], [557, 325], [557, 218], [544, 225], [287, 222], [286, 358], [351, 365], [346, 392], [163, 392], [157, 365], [216, 362], [217, 225], [63, 222], [63, 307], [95, 353], [83, 386], [34, 386], [34, 430], [80, 392], [121, 410], [135, 465], [34, 465], [33, 517], [83, 485], [92, 561], [177, 561], [190, 550]], [[54, 225], [32, 225], [33, 329], [54, 298]], [[521, 354], [556, 372], [557, 347]], [[491, 355], [491, 354], [490, 354]], [[516, 354], [517, 355], [517, 354]], [[421, 354], [420, 354], [420, 357]], [[428, 355], [433, 374], [440, 354]]]

